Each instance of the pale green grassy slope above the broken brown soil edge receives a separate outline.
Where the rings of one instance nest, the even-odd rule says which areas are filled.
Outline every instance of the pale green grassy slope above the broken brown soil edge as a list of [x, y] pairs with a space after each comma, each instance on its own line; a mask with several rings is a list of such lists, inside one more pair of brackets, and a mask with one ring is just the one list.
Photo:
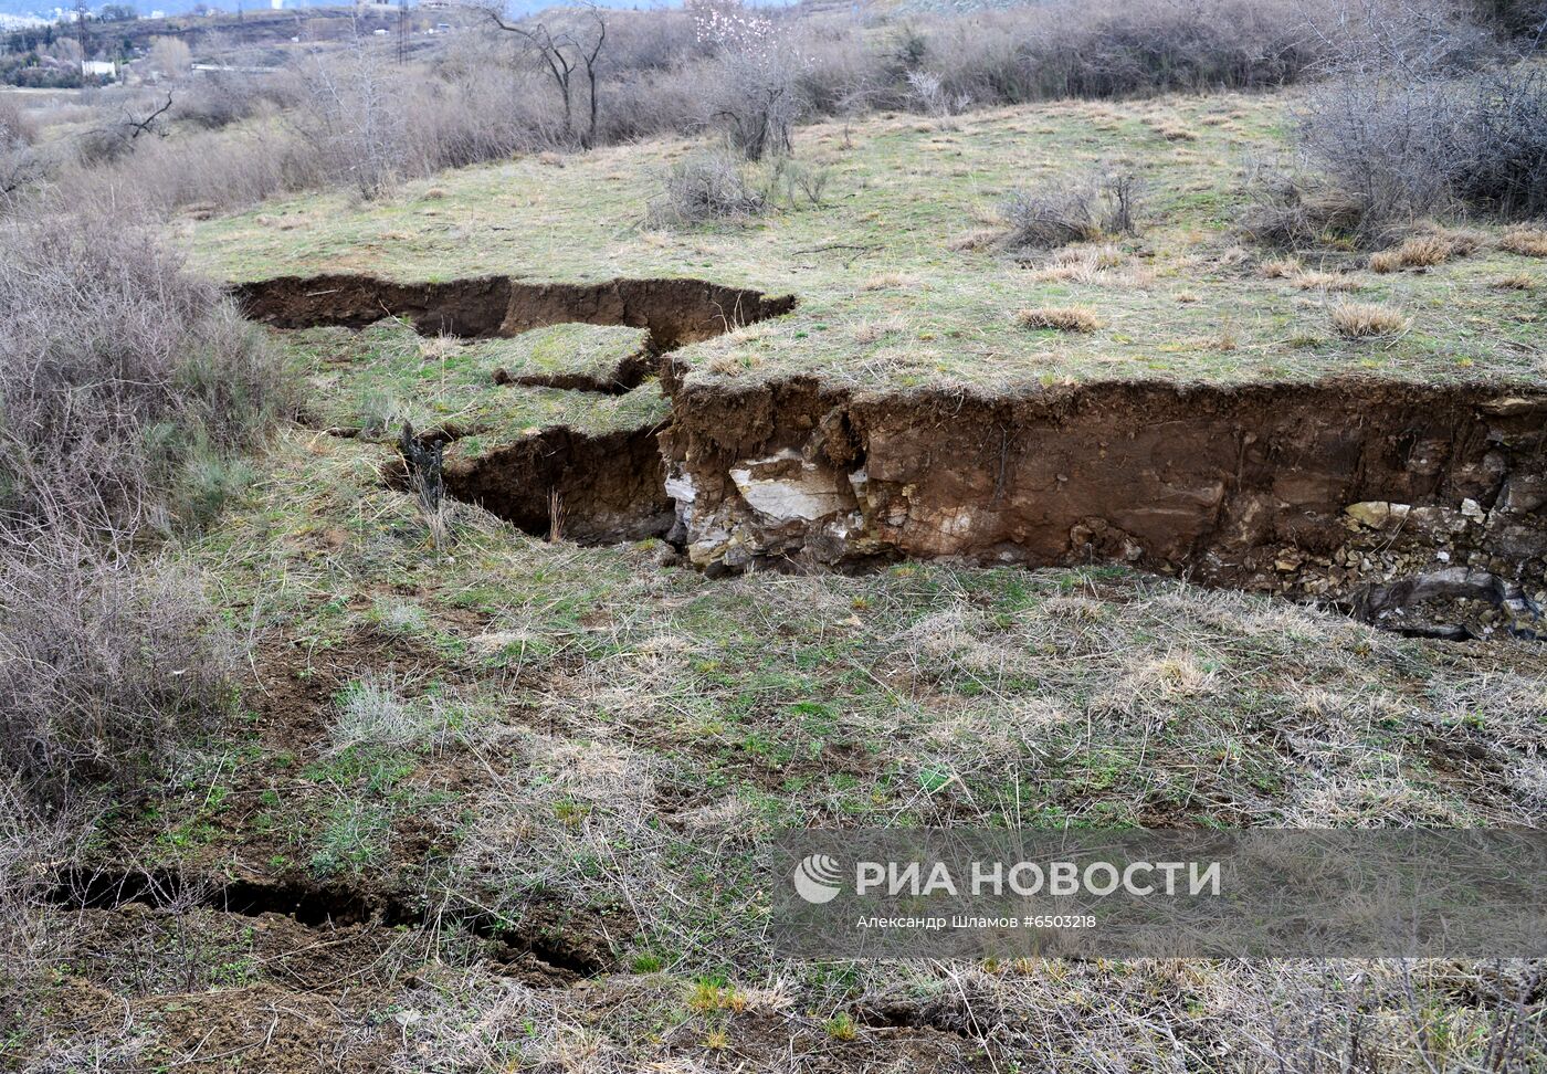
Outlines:
[[[1412, 330], [1349, 342], [1327, 310], [1340, 297], [1262, 279], [1269, 251], [1230, 234], [1248, 207], [1242, 162], [1287, 149], [1286, 97], [1060, 102], [962, 116], [801, 128], [804, 164], [832, 173], [821, 206], [746, 224], [653, 231], [645, 207], [685, 142], [466, 169], [407, 184], [376, 204], [316, 195], [186, 224], [198, 265], [226, 279], [364, 271], [404, 280], [500, 272], [524, 280], [705, 277], [794, 292], [800, 308], [693, 345], [695, 376], [817, 373], [874, 388], [1010, 390], [1086, 379], [1245, 382], [1366, 373], [1402, 379], [1539, 376], [1539, 302], [1490, 286], [1539, 260], [1501, 252], [1491, 231], [1467, 257], [1426, 272], [1374, 274], [1329, 249], [1307, 269], [1347, 269], [1358, 299], [1400, 308]], [[1160, 128], [1196, 138], [1173, 141]], [[848, 133], [845, 133], [848, 132]], [[1018, 263], [992, 243], [1015, 189], [1058, 184], [1095, 164], [1146, 184], [1143, 232], [1115, 265], [1058, 279], [1050, 258]], [[427, 200], [435, 187], [444, 198]], [[1497, 229], [1494, 229], [1497, 231]], [[1026, 333], [1018, 310], [1088, 305], [1088, 334]]]

